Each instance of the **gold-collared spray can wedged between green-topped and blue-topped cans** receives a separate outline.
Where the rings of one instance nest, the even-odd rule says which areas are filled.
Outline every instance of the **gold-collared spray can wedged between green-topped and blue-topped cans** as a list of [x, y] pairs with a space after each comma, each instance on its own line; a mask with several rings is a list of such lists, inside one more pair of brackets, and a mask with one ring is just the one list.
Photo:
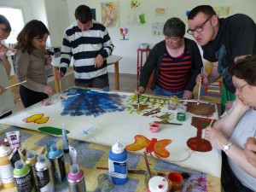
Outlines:
[[32, 150], [26, 151], [25, 163], [27, 166], [30, 166], [36, 190], [39, 191], [38, 178], [37, 178], [36, 169], [35, 169], [35, 165], [37, 163], [37, 155], [34, 151]]

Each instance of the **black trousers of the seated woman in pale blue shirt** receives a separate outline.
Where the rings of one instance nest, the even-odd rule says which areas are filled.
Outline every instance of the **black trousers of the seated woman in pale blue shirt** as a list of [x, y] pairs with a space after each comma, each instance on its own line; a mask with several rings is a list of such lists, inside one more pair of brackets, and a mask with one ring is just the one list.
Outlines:
[[224, 192], [253, 192], [253, 190], [242, 185], [234, 175], [224, 152], [222, 152], [221, 184]]

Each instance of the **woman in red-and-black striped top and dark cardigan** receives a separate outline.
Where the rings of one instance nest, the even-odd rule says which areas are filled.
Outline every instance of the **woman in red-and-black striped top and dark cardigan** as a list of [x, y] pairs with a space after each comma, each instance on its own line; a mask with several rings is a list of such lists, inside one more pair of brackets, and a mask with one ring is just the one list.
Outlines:
[[191, 99], [196, 76], [201, 73], [200, 50], [195, 41], [184, 38], [185, 24], [179, 18], [167, 20], [163, 32], [166, 39], [150, 51], [135, 93], [143, 94], [154, 72], [154, 95]]

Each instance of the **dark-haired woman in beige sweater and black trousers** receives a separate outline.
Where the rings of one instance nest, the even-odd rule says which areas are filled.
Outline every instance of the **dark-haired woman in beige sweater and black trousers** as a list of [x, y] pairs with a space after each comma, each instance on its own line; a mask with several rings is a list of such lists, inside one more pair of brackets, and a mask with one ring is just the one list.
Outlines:
[[25, 108], [48, 98], [55, 90], [47, 85], [45, 65], [51, 63], [46, 55], [46, 40], [49, 31], [40, 20], [31, 20], [17, 37], [15, 52], [16, 78], [21, 83], [20, 98]]

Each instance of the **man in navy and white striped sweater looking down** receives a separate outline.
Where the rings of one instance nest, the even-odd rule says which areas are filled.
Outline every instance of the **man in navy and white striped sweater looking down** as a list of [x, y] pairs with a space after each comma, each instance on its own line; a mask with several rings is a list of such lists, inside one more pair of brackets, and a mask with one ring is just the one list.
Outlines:
[[113, 52], [108, 30], [92, 20], [91, 10], [86, 5], [79, 5], [75, 18], [76, 22], [64, 32], [58, 76], [67, 72], [73, 56], [76, 86], [106, 88], [109, 86], [107, 57]]

